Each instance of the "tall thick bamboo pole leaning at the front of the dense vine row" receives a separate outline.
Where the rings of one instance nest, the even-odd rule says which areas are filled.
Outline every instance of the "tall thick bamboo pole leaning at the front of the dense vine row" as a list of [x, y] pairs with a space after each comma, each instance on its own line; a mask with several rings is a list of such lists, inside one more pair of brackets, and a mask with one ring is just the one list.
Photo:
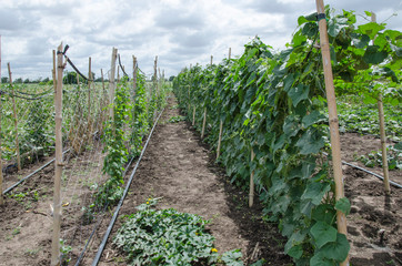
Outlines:
[[[330, 57], [330, 44], [328, 40], [326, 32], [326, 20], [325, 20], [325, 10], [323, 0], [315, 0], [316, 12], [320, 18], [320, 42], [321, 42], [321, 53], [322, 53], [322, 64], [324, 68], [324, 78], [325, 78], [325, 91], [326, 91], [326, 101], [328, 101], [328, 111], [330, 120], [330, 131], [331, 131], [331, 150], [332, 150], [332, 166], [333, 175], [335, 182], [335, 198], [339, 201], [344, 197], [343, 190], [343, 176], [342, 176], [342, 161], [341, 161], [341, 145], [339, 136], [339, 121], [336, 113], [336, 99], [335, 91], [333, 86], [333, 76], [332, 76], [332, 66], [331, 66], [331, 57]], [[338, 232], [346, 236], [346, 217], [345, 214], [341, 211], [336, 211], [336, 226]], [[341, 263], [341, 266], [349, 265], [349, 256], [346, 259]]]

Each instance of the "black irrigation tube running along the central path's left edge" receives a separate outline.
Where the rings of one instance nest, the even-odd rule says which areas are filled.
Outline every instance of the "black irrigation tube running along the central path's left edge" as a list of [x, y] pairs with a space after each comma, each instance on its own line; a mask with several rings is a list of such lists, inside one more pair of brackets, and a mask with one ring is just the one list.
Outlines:
[[123, 205], [123, 201], [124, 201], [124, 198], [125, 198], [125, 196], [127, 196], [127, 193], [129, 192], [129, 188], [130, 188], [131, 182], [132, 182], [132, 180], [133, 180], [133, 177], [134, 177], [134, 174], [135, 174], [135, 172], [137, 172], [137, 168], [138, 168], [138, 166], [140, 165], [141, 158], [142, 158], [142, 156], [143, 156], [143, 154], [145, 153], [148, 143], [149, 143], [149, 141], [151, 140], [152, 133], [153, 133], [153, 131], [154, 131], [154, 129], [155, 129], [155, 126], [157, 126], [157, 124], [158, 124], [158, 121], [159, 121], [159, 119], [161, 117], [163, 111], [164, 111], [164, 109], [163, 109], [162, 112], [159, 114], [159, 116], [158, 116], [158, 119], [157, 119], [157, 122], [153, 123], [152, 130], [151, 130], [151, 132], [150, 132], [150, 134], [149, 134], [149, 136], [148, 136], [148, 140], [147, 140], [147, 142], [145, 142], [145, 145], [143, 146], [143, 149], [142, 149], [142, 151], [141, 151], [141, 154], [140, 154], [140, 157], [138, 158], [137, 164], [135, 164], [135, 166], [134, 166], [134, 170], [132, 171], [132, 173], [131, 173], [131, 175], [130, 175], [130, 180], [129, 180], [129, 182], [127, 183], [127, 186], [125, 186], [123, 196], [120, 198], [120, 202], [119, 202], [119, 204], [118, 204], [118, 207], [115, 208], [114, 214], [113, 214], [113, 217], [112, 217], [112, 219], [110, 221], [110, 224], [109, 224], [109, 226], [108, 226], [107, 233], [104, 234], [103, 239], [102, 239], [102, 243], [100, 244], [100, 246], [99, 246], [99, 248], [98, 248], [98, 253], [97, 253], [97, 255], [96, 255], [96, 257], [94, 257], [94, 259], [93, 259], [93, 262], [92, 262], [92, 266], [97, 266], [98, 263], [99, 263], [100, 257], [102, 256], [104, 246], [107, 245], [109, 235], [110, 235], [110, 233], [111, 233], [111, 231], [112, 231], [112, 228], [113, 228], [113, 225], [114, 225], [114, 223], [115, 223], [115, 219], [118, 218], [120, 208], [121, 208], [121, 206]]

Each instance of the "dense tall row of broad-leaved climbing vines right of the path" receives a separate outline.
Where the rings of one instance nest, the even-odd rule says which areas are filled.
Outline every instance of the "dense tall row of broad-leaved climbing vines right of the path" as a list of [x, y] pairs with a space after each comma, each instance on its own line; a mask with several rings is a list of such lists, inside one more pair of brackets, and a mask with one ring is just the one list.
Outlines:
[[[400, 32], [372, 22], [358, 27], [353, 12], [335, 16], [328, 7], [326, 18], [336, 84], [366, 75], [372, 91], [399, 84]], [[350, 203], [335, 201], [321, 154], [329, 129], [316, 14], [298, 23], [288, 49], [274, 52], [255, 38], [237, 59], [184, 69], [173, 90], [189, 120], [195, 106], [198, 129], [207, 111], [207, 141], [214, 147], [223, 122], [219, 162], [243, 187], [254, 172], [265, 217], [289, 238], [284, 252], [298, 265], [336, 265], [350, 246], [336, 232], [335, 213], [348, 214]]]

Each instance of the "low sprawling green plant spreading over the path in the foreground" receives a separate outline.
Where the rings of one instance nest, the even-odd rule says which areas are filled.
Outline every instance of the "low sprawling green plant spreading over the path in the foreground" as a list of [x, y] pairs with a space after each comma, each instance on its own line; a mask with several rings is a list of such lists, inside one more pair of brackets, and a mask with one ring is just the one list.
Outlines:
[[130, 265], [243, 265], [239, 249], [222, 256], [213, 247], [214, 237], [204, 226], [209, 221], [179, 213], [173, 208], [157, 211], [157, 198], [148, 198], [137, 206], [135, 214], [125, 216], [113, 244], [128, 255]]

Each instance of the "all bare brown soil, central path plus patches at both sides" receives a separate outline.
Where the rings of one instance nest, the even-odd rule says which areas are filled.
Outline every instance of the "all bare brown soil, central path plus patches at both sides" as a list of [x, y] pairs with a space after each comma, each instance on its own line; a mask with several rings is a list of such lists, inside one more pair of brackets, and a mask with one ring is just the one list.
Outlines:
[[[155, 129], [99, 265], [125, 265], [124, 256], [114, 248], [111, 238], [122, 224], [121, 217], [135, 212], [134, 207], [150, 196], [163, 197], [159, 208], [173, 207], [211, 219], [209, 229], [217, 238], [220, 253], [241, 248], [245, 265], [260, 258], [265, 258], [267, 265], [293, 265], [283, 254], [287, 239], [279, 233], [278, 225], [262, 221], [262, 206], [257, 198], [255, 205], [249, 208], [248, 193], [229, 183], [224, 171], [214, 163], [214, 153], [189, 123], [168, 122], [180, 115], [179, 110], [172, 109], [174, 104], [171, 99]], [[359, 134], [343, 134], [341, 142], [343, 160], [355, 164], [360, 163], [353, 162], [353, 154], [365, 154], [380, 146], [378, 139]], [[100, 151], [94, 152], [98, 153], [94, 157], [100, 158]], [[83, 154], [76, 164], [84, 167], [89, 163]], [[31, 170], [38, 166], [32, 165]], [[97, 172], [101, 165], [93, 167]], [[402, 191], [392, 187], [391, 196], [385, 196], [383, 184], [376, 177], [350, 166], [343, 170], [345, 194], [352, 203], [348, 216], [352, 265], [402, 265]], [[371, 171], [382, 173], [381, 168]], [[401, 171], [390, 174], [391, 180], [402, 183]], [[52, 177], [51, 165], [19, 186], [16, 193], [28, 192], [26, 197], [7, 197], [6, 205], [0, 207], [0, 265], [50, 264]], [[71, 200], [73, 193], [69, 190], [67, 198]], [[70, 262], [73, 265], [93, 226], [100, 223], [81, 263], [91, 265], [112, 211], [98, 215], [92, 222], [84, 221], [80, 209], [91, 203], [93, 192], [90, 185], [80, 190], [80, 197], [63, 207], [62, 235], [73, 246]], [[253, 253], [257, 255], [251, 258]]]

